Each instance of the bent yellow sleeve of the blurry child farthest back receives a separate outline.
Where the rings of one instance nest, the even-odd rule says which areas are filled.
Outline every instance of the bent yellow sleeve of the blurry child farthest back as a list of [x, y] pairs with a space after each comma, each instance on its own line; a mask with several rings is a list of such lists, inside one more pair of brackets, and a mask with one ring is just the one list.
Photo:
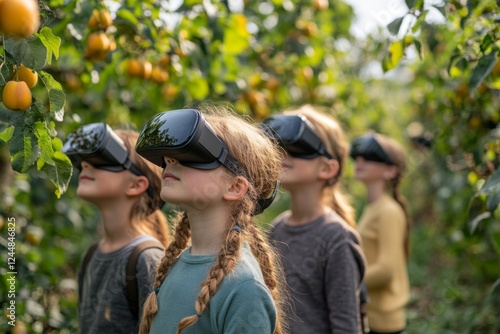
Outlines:
[[378, 217], [378, 256], [375, 263], [368, 266], [366, 285], [376, 289], [386, 285], [397, 270], [395, 254], [403, 251], [405, 217], [397, 208], [387, 208]]

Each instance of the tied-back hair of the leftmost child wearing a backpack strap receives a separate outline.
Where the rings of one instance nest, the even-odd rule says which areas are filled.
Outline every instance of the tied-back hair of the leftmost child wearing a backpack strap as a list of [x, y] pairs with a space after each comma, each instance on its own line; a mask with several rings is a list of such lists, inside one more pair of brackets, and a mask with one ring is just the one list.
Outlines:
[[162, 169], [145, 160], [135, 151], [139, 133], [131, 130], [115, 130], [115, 133], [123, 140], [130, 159], [146, 176], [151, 187], [151, 190], [145, 191], [132, 207], [130, 213], [133, 222], [132, 229], [155, 237], [166, 247], [170, 242], [170, 233], [167, 219], [160, 210], [163, 204], [160, 198]]

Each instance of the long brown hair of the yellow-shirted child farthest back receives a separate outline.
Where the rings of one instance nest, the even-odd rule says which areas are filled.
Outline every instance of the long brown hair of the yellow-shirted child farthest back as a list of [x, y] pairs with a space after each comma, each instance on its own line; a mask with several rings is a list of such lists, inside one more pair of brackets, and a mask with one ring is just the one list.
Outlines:
[[388, 181], [388, 186], [392, 191], [392, 196], [396, 200], [396, 202], [401, 205], [403, 208], [405, 218], [406, 218], [406, 236], [404, 241], [404, 248], [406, 258], [408, 259], [410, 256], [410, 227], [411, 227], [411, 218], [408, 212], [408, 205], [406, 203], [405, 198], [399, 192], [399, 186], [401, 184], [401, 180], [406, 172], [407, 167], [407, 156], [403, 147], [394, 139], [384, 136], [380, 133], [374, 133], [374, 136], [384, 152], [389, 156], [394, 165], [398, 168], [398, 172], [396, 176]]

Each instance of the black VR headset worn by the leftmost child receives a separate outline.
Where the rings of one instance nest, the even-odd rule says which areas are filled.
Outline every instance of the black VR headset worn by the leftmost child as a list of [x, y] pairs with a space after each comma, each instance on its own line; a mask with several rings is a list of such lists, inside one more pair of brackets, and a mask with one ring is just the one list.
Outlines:
[[[128, 169], [137, 176], [144, 176], [144, 173], [130, 159], [123, 141], [105, 123], [87, 124], [70, 133], [62, 152], [80, 171], [82, 161], [86, 161], [97, 169], [110, 172]], [[155, 191], [151, 185], [149, 185], [148, 193], [154, 198]]]

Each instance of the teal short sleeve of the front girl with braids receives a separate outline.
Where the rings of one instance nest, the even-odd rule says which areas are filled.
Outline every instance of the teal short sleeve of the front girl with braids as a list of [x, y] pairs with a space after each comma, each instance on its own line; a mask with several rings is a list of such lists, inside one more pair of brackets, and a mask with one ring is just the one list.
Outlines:
[[231, 289], [217, 318], [219, 333], [272, 334], [276, 327], [276, 307], [267, 287], [247, 280]]

